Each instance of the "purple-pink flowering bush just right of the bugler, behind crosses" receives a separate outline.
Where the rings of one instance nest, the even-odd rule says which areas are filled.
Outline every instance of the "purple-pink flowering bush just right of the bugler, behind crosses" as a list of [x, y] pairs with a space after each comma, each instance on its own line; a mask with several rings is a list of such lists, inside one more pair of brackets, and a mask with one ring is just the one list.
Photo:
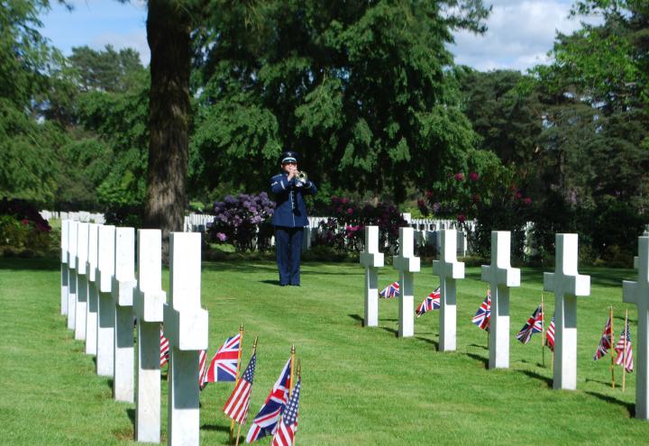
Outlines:
[[379, 226], [379, 246], [388, 243], [393, 252], [398, 250], [398, 229], [406, 221], [394, 205], [356, 205], [348, 198], [332, 196], [327, 210], [330, 217], [320, 223], [315, 245], [331, 246], [335, 250], [358, 252], [365, 242], [365, 226]]

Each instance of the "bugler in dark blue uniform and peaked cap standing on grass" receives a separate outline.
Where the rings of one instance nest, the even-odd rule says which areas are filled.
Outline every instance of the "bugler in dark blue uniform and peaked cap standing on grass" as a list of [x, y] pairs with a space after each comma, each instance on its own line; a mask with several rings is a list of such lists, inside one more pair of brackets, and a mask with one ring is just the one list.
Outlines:
[[279, 285], [299, 287], [299, 261], [306, 220], [304, 196], [315, 194], [311, 180], [297, 177], [297, 152], [285, 151], [279, 157], [281, 172], [270, 178], [270, 190], [275, 195], [275, 249], [279, 270]]

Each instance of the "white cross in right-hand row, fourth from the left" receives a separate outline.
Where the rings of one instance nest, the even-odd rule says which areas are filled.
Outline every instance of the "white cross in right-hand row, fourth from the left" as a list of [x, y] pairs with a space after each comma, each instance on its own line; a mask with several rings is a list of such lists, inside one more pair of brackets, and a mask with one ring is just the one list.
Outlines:
[[481, 280], [489, 282], [489, 369], [509, 367], [509, 288], [520, 287], [520, 269], [509, 260], [511, 232], [491, 232], [491, 264], [482, 265]]

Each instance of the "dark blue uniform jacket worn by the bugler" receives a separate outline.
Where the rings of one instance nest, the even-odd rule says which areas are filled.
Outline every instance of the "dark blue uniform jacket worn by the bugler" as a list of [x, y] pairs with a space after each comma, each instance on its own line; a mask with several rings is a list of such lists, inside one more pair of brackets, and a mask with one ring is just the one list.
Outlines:
[[304, 227], [306, 220], [306, 204], [304, 195], [315, 194], [317, 188], [313, 181], [307, 180], [300, 186], [297, 178], [288, 181], [288, 173], [282, 172], [270, 178], [270, 190], [275, 195], [275, 213], [272, 223], [276, 226], [289, 228]]

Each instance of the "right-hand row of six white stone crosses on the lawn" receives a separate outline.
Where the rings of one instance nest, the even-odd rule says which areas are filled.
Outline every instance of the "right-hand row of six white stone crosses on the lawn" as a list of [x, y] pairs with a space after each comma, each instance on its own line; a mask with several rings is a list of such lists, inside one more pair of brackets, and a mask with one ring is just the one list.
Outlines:
[[[414, 275], [419, 259], [413, 250], [413, 229], [399, 229], [399, 255], [393, 266], [399, 273], [398, 335], [414, 335]], [[433, 273], [440, 278], [440, 351], [456, 349], [456, 280], [464, 278], [464, 264], [457, 261], [455, 230], [442, 230], [440, 259], [433, 262]], [[590, 295], [590, 276], [578, 273], [577, 234], [556, 234], [555, 269], [544, 273], [544, 290], [555, 296], [553, 388], [577, 387], [577, 297]], [[489, 369], [509, 367], [509, 288], [520, 287], [520, 269], [511, 267], [510, 232], [491, 232], [491, 263], [481, 268], [481, 280], [489, 283], [491, 317], [489, 327]], [[638, 238], [639, 256], [635, 259], [638, 281], [623, 284], [624, 301], [638, 307], [636, 407], [635, 416], [649, 419], [649, 237]], [[365, 250], [365, 326], [379, 324], [379, 228], [366, 226]]]

